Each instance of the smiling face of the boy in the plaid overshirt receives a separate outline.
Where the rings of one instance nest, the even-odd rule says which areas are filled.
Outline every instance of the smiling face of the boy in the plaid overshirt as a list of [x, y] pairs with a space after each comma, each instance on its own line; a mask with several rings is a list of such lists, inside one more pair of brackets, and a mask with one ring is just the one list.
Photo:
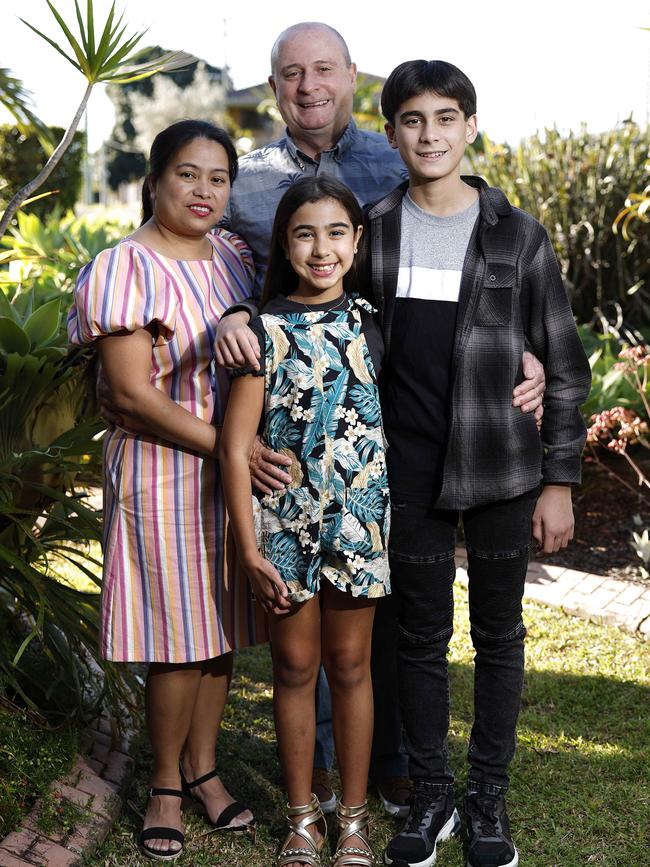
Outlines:
[[385, 129], [415, 183], [459, 177], [465, 146], [477, 135], [475, 114], [465, 118], [457, 100], [431, 92], [403, 102]]

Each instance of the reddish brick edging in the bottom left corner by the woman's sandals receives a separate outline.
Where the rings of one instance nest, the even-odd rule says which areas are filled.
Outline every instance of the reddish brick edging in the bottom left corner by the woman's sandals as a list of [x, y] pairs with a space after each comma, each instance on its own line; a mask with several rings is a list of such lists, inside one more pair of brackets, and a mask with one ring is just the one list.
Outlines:
[[0, 840], [0, 867], [80, 865], [103, 842], [122, 809], [134, 762], [128, 737], [117, 743], [107, 719], [100, 719], [86, 734], [87, 755], [77, 755], [65, 778], [50, 784], [52, 793], [84, 808], [84, 818], [69, 834], [42, 831], [37, 801], [21, 827]]

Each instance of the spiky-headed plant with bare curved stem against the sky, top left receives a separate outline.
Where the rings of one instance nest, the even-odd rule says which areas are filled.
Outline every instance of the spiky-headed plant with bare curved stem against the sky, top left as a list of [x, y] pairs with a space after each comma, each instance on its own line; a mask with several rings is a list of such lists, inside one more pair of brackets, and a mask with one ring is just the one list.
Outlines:
[[101, 34], [95, 36], [95, 14], [93, 8], [93, 0], [87, 0], [86, 3], [86, 20], [81, 14], [79, 0], [74, 0], [77, 24], [79, 28], [79, 38], [77, 38], [68, 24], [65, 22], [61, 14], [50, 0], [46, 0], [47, 5], [56, 19], [57, 24], [61, 28], [64, 37], [64, 44], [67, 43], [69, 50], [66, 52], [58, 41], [52, 39], [40, 30], [37, 30], [28, 21], [21, 18], [31, 30], [38, 36], [48, 42], [59, 54], [71, 63], [75, 69], [85, 77], [88, 82], [86, 91], [83, 95], [79, 107], [75, 115], [66, 129], [63, 138], [54, 149], [47, 163], [38, 175], [25, 184], [11, 198], [7, 209], [0, 219], [0, 238], [7, 230], [7, 226], [13, 219], [14, 214], [20, 206], [43, 184], [49, 177], [54, 167], [57, 165], [61, 156], [70, 145], [72, 137], [79, 126], [79, 122], [86, 108], [86, 104], [90, 97], [93, 87], [101, 82], [112, 84], [126, 84], [129, 81], [136, 81], [139, 78], [148, 78], [155, 75], [157, 72], [178, 69], [181, 66], [186, 66], [192, 63], [195, 58], [184, 51], [170, 51], [155, 60], [147, 63], [131, 63], [128, 60], [128, 55], [133, 51], [138, 42], [142, 39], [146, 31], [126, 34], [126, 25], [122, 24], [124, 14], [116, 15], [115, 3], [111, 5], [110, 11], [101, 28]]

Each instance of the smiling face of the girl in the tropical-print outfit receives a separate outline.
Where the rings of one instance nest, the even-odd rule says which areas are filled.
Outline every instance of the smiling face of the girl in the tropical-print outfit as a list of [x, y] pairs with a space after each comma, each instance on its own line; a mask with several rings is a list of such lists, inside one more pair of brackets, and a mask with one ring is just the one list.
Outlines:
[[294, 294], [318, 302], [337, 298], [362, 231], [337, 199], [301, 205], [289, 220], [286, 236], [287, 258], [298, 275]]

